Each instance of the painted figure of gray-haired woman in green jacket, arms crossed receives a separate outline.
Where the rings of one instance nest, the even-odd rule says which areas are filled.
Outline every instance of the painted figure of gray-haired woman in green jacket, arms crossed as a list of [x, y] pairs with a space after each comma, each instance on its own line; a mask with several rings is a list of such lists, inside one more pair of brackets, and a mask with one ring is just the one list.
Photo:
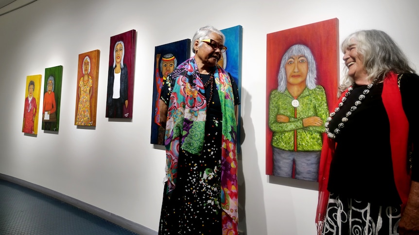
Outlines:
[[269, 96], [274, 175], [318, 181], [329, 110], [324, 88], [316, 85], [316, 74], [310, 48], [297, 44], [282, 56], [278, 89]]

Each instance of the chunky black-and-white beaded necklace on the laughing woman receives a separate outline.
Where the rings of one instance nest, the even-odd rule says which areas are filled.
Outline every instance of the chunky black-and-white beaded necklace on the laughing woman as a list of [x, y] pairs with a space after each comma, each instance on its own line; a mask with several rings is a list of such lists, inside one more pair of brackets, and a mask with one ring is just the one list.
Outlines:
[[340, 133], [341, 129], [345, 126], [345, 123], [348, 122], [349, 117], [352, 115], [352, 112], [354, 112], [361, 104], [362, 101], [365, 99], [365, 95], [369, 93], [369, 90], [374, 86], [374, 83], [376, 82], [375, 78], [372, 83], [367, 85], [367, 89], [365, 89], [362, 94], [358, 96], [358, 100], [355, 101], [354, 105], [350, 107], [349, 111], [346, 112], [345, 116], [341, 119], [341, 122], [337, 125], [337, 128], [335, 128], [333, 131], [329, 129], [330, 121], [332, 121], [333, 116], [336, 115], [336, 113], [341, 109], [341, 107], [344, 105], [345, 101], [348, 99], [348, 96], [350, 95], [350, 92], [353, 90], [353, 86], [350, 86], [348, 88], [348, 92], [345, 94], [344, 97], [342, 97], [341, 102], [337, 105], [337, 107], [334, 109], [333, 112], [330, 113], [330, 116], [327, 118], [327, 122], [325, 123], [326, 127], [326, 133], [327, 136], [331, 139], [335, 139], [336, 135]]

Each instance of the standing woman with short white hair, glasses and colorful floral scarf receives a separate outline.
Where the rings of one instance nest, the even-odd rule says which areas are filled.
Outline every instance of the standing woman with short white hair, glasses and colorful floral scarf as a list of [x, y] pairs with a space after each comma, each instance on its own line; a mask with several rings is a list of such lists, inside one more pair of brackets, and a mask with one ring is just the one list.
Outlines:
[[169, 75], [166, 182], [159, 235], [237, 235], [237, 85], [217, 62], [224, 34], [203, 27], [195, 55]]

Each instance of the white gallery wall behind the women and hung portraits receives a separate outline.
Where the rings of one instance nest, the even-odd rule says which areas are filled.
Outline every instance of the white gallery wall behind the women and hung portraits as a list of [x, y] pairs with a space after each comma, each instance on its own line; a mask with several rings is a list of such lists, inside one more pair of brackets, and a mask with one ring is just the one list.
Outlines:
[[[37, 0], [0, 16], [0, 173], [157, 231], [165, 152], [150, 144], [154, 49], [191, 39], [205, 25], [242, 25], [239, 229], [246, 235], [314, 235], [317, 184], [265, 175], [266, 34], [338, 18], [340, 42], [360, 29], [386, 31], [419, 69], [418, 9], [417, 0]], [[133, 119], [108, 120], [110, 37], [132, 29], [138, 33]], [[78, 55], [95, 49], [101, 51], [97, 126], [78, 128]], [[45, 68], [57, 65], [64, 67], [59, 132], [38, 125], [36, 137], [25, 135], [26, 76], [43, 80]]]

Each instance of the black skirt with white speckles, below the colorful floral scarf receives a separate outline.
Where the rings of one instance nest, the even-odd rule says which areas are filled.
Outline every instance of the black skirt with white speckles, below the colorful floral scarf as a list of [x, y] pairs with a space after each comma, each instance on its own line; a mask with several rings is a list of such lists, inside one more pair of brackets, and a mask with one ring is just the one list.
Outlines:
[[175, 189], [163, 192], [159, 235], [220, 235], [222, 121], [206, 122], [201, 155], [181, 150]]

